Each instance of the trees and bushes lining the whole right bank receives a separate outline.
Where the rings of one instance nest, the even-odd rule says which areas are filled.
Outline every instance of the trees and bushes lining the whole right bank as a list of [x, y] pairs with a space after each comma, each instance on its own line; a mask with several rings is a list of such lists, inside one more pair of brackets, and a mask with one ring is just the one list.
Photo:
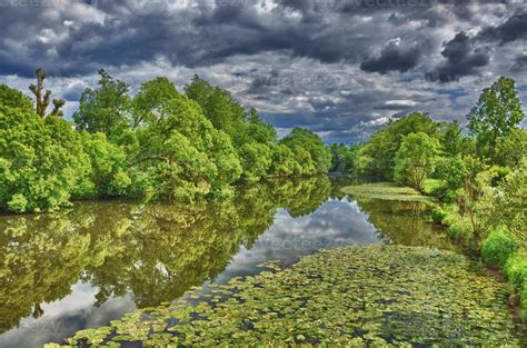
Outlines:
[[435, 196], [436, 223], [504, 271], [527, 321], [527, 131], [515, 81], [485, 88], [467, 126], [412, 112], [364, 143], [331, 146], [332, 168]]

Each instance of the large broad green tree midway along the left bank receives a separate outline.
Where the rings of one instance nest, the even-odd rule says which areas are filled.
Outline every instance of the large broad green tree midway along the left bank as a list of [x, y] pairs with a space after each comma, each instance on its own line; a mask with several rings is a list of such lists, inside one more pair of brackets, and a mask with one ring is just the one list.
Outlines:
[[[157, 91], [163, 91], [159, 98]], [[142, 121], [130, 155], [137, 191], [149, 199], [193, 199], [220, 192], [240, 176], [229, 137], [167, 79], [145, 82], [138, 101]]]

